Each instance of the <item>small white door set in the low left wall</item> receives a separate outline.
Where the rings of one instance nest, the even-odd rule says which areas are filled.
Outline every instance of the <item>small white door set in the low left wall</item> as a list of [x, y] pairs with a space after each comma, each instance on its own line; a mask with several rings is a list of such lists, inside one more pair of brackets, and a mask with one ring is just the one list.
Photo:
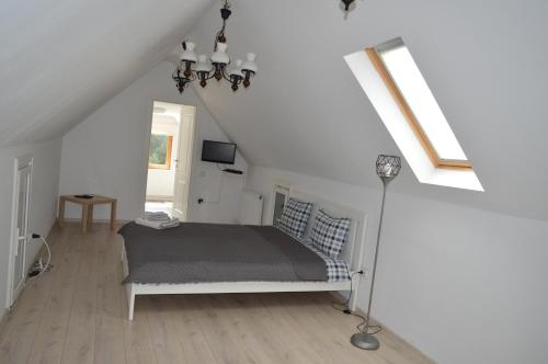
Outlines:
[[32, 158], [21, 158], [15, 163], [9, 306], [12, 306], [18, 299], [26, 278], [25, 265], [28, 237], [28, 208], [31, 204]]

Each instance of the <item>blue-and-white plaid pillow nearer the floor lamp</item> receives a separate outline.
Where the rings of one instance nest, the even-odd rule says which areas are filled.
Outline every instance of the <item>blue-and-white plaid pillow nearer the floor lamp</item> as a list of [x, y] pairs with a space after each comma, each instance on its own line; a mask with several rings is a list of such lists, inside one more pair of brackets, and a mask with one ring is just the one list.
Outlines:
[[350, 218], [335, 218], [318, 211], [312, 226], [310, 240], [312, 244], [331, 258], [341, 253], [350, 229]]

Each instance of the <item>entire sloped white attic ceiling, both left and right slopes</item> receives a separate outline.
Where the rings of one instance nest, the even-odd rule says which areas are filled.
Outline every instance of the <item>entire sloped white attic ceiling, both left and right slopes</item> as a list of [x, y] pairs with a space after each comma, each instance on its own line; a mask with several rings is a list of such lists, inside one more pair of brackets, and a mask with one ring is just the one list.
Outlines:
[[[395, 191], [548, 219], [548, 2], [233, 0], [229, 53], [259, 54], [250, 90], [199, 96], [255, 164], [376, 187], [373, 163], [398, 149], [343, 56], [402, 36], [486, 193]], [[210, 53], [215, 0], [0, 2], [0, 147], [60, 136], [169, 58], [191, 31]], [[205, 13], [205, 16], [202, 16]], [[165, 75], [169, 78], [171, 75]]]

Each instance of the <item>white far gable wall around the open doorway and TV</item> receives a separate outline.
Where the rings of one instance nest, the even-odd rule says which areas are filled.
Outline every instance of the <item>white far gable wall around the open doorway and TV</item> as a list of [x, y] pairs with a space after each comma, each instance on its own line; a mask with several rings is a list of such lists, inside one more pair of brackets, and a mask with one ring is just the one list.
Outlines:
[[[196, 109], [196, 139], [192, 166], [189, 217], [191, 220], [233, 223], [238, 217], [243, 178], [221, 173], [202, 162], [202, 140], [228, 138], [192, 89], [183, 95], [171, 80], [173, 66], [162, 62], [65, 135], [61, 194], [96, 193], [118, 200], [118, 218], [132, 220], [144, 209], [152, 102], [165, 101]], [[236, 168], [246, 170], [237, 153]], [[198, 205], [198, 197], [208, 203]], [[80, 217], [78, 206], [67, 205], [67, 216]], [[98, 206], [95, 218], [109, 218], [109, 207]]]

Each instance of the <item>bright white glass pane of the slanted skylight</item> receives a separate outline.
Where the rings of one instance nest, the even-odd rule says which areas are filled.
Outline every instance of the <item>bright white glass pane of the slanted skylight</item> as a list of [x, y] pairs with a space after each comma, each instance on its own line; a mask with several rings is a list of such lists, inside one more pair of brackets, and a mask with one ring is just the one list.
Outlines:
[[445, 115], [401, 38], [375, 47], [429, 141], [442, 160], [467, 161]]

